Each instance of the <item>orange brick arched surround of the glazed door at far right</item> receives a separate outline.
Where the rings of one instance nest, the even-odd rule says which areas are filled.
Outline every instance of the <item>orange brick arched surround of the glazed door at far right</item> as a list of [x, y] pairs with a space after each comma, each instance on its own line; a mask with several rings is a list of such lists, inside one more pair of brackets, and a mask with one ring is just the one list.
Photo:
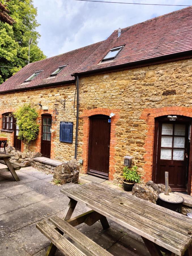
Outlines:
[[155, 117], [164, 115], [183, 115], [192, 117], [192, 108], [187, 107], [164, 107], [164, 108], [146, 108], [143, 110], [140, 119], [144, 119], [147, 123], [146, 138], [144, 141], [144, 181], [152, 180], [153, 174], [153, 150], [154, 150], [154, 133], [155, 133]]

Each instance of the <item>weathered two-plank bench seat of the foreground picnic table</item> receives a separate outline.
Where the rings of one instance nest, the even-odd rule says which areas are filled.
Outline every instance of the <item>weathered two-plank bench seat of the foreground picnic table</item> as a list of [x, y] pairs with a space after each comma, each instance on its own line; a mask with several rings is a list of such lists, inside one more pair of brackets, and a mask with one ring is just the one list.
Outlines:
[[[58, 216], [49, 218], [49, 221], [55, 225], [56, 228], [50, 226], [45, 220], [37, 223], [36, 227], [44, 234], [64, 255], [69, 256], [85, 256], [81, 251], [85, 250], [88, 255], [94, 256], [111, 256], [112, 254], [96, 244], [90, 238], [82, 234], [79, 230], [71, 226], [67, 221]], [[71, 238], [81, 249], [78, 249], [73, 243], [67, 240], [62, 234], [66, 234]]]

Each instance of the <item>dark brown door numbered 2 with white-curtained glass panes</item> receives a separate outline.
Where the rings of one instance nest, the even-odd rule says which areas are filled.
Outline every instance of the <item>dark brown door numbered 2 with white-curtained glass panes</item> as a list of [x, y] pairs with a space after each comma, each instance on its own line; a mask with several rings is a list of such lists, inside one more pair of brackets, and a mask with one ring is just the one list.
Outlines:
[[161, 121], [158, 130], [155, 182], [164, 184], [168, 172], [172, 190], [186, 191], [189, 124]]

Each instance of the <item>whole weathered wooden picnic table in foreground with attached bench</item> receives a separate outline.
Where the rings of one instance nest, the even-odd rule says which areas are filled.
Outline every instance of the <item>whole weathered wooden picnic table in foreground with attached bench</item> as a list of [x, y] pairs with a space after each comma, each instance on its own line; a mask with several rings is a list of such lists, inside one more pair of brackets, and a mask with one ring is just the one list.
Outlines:
[[[192, 255], [192, 221], [187, 216], [96, 182], [69, 187], [62, 189], [61, 192], [70, 198], [63, 219], [58, 217], [49, 219], [61, 234], [61, 238], [63, 238], [62, 234], [65, 233], [74, 241], [77, 240], [77, 237], [80, 236], [79, 231], [77, 234], [72, 226], [77, 226], [83, 222], [90, 226], [100, 220], [104, 229], [109, 228], [107, 222], [107, 218], [109, 218], [139, 234], [151, 256], [162, 256], [161, 251], [164, 251], [165, 255], [171, 256]], [[85, 203], [92, 210], [71, 219], [78, 201]], [[71, 232], [69, 225], [71, 225]], [[45, 232], [46, 229], [43, 222], [37, 224], [37, 228], [41, 232], [42, 230]], [[81, 235], [84, 238], [84, 235]], [[51, 234], [47, 237], [52, 243], [46, 256], [54, 255], [56, 248], [60, 249], [60, 247]], [[69, 245], [69, 243], [67, 244]], [[79, 244], [81, 246], [80, 242]], [[87, 247], [89, 247], [89, 243], [87, 243]], [[85, 249], [85, 245], [82, 248]], [[107, 251], [104, 252], [108, 253]], [[89, 251], [89, 254], [103, 255], [95, 254], [94, 250], [91, 253]]]

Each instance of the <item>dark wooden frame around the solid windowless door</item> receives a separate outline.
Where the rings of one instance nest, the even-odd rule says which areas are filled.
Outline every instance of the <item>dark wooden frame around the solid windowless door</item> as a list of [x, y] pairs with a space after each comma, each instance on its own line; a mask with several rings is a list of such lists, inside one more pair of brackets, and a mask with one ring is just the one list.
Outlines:
[[[102, 174], [100, 174], [99, 172], [98, 172], [98, 174], [94, 174], [94, 173], [90, 173], [90, 153], [91, 153], [91, 136], [92, 136], [92, 120], [94, 119], [94, 117], [97, 117], [98, 116], [98, 119], [99, 118], [102, 118], [103, 117], [103, 119], [105, 119], [105, 118], [110, 118], [109, 117], [109, 115], [103, 115], [103, 114], [97, 114], [97, 115], [92, 115], [92, 116], [90, 116], [89, 117], [89, 139], [88, 139], [88, 164], [87, 164], [87, 173], [88, 174], [91, 174], [91, 175], [93, 175], [93, 176], [100, 176], [100, 177], [104, 177], [105, 179], [109, 179], [109, 172], [108, 172], [108, 175], [107, 176], [105, 176], [105, 175], [103, 175], [102, 176]], [[111, 127], [110, 127], [110, 133], [109, 133], [109, 141], [111, 142]], [[111, 144], [111, 143], [110, 143]], [[110, 145], [110, 147], [111, 147], [111, 145]], [[109, 150], [109, 158], [110, 158], [110, 150]], [[110, 160], [110, 159], [109, 159]]]

